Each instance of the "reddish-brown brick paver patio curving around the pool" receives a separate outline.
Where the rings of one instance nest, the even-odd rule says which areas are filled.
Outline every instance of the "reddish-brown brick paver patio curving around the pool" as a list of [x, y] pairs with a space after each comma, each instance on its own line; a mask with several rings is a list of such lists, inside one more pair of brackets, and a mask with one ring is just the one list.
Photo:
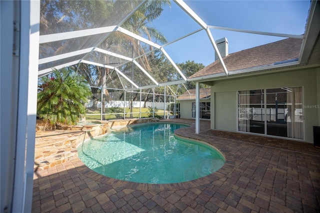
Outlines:
[[[320, 149], [313, 144], [209, 130], [176, 134], [208, 142], [225, 164], [208, 176], [142, 184], [99, 175], [79, 159], [34, 173], [32, 212], [320, 212]], [[192, 169], [192, 168], [190, 168]]]

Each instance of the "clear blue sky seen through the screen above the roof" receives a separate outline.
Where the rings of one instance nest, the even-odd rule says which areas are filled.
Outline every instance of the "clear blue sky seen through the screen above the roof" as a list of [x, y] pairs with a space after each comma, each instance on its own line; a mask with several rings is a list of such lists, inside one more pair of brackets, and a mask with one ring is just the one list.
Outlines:
[[[310, 5], [308, 0], [186, 0], [185, 3], [208, 25], [287, 34], [304, 33]], [[174, 2], [163, 10], [152, 26], [161, 31], [168, 41], [200, 28]], [[221, 37], [228, 39], [229, 53], [284, 39], [217, 29], [210, 31], [215, 40]], [[178, 63], [194, 60], [208, 65], [214, 61], [214, 50], [204, 30], [164, 49]]]

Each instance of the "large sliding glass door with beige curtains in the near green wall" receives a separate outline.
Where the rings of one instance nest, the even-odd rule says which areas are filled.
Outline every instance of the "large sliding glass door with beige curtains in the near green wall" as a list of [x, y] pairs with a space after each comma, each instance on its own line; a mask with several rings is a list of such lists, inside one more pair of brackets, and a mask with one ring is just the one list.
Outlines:
[[238, 91], [238, 130], [303, 139], [302, 87]]

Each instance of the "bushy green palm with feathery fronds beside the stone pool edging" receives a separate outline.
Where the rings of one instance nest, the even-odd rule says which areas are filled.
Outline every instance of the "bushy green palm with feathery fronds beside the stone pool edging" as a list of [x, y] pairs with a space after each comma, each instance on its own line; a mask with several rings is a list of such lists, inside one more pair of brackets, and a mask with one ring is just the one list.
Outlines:
[[51, 125], [75, 124], [85, 113], [85, 102], [91, 89], [79, 74], [70, 68], [54, 70], [41, 78], [38, 86], [37, 114]]

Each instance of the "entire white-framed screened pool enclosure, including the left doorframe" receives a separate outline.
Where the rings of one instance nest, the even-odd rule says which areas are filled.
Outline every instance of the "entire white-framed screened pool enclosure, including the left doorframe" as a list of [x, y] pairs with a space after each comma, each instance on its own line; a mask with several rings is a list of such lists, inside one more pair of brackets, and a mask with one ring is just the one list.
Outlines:
[[[92, 92], [90, 119], [144, 117], [141, 108], [149, 107], [151, 116], [157, 107], [167, 118], [179, 114], [178, 95], [195, 88], [199, 106], [199, 88], [212, 86], [205, 76], [188, 78], [197, 70], [185, 61], [207, 66], [217, 59], [218, 75], [232, 77], [222, 58], [228, 52], [284, 38], [301, 39], [301, 52], [311, 48], [304, 46], [310, 9], [304, 0], [0, 3], [1, 212], [30, 212], [37, 86], [52, 71], [67, 67], [84, 76]], [[224, 37], [228, 52], [215, 43]]]

